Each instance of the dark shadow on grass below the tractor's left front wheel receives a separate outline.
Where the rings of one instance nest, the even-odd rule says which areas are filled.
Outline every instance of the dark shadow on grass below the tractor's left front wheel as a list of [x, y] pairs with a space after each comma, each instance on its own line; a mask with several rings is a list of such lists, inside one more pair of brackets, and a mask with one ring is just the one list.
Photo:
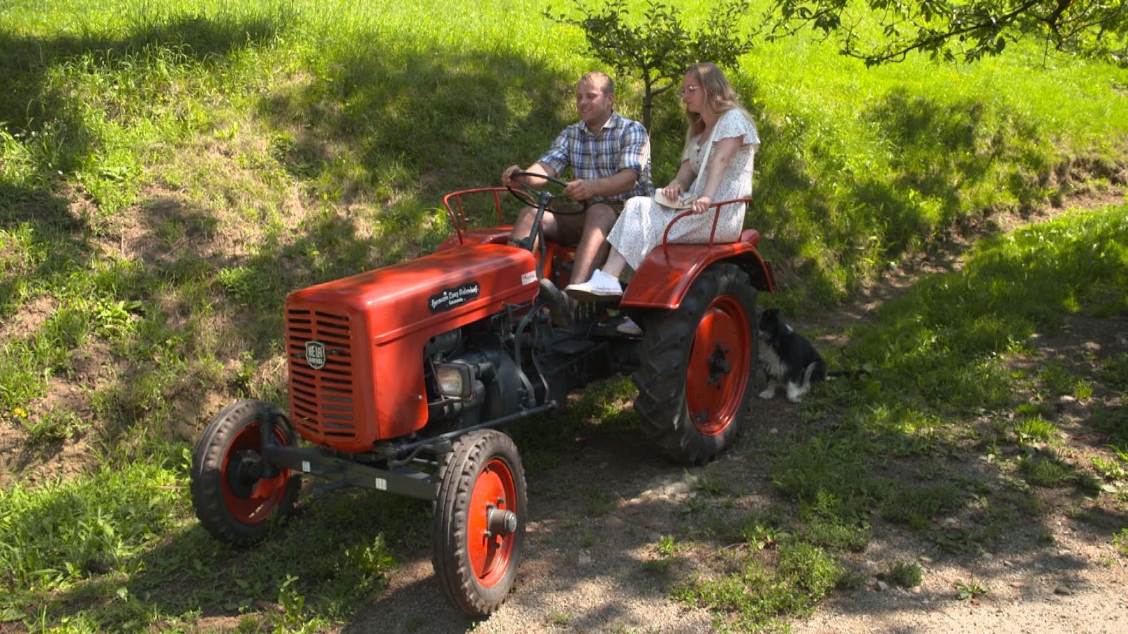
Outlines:
[[[372, 491], [307, 492], [293, 516], [257, 545], [227, 545], [192, 523], [131, 562], [136, 572], [124, 583], [126, 601], [91, 605], [96, 591], [85, 584], [59, 599], [85, 606], [106, 625], [197, 610], [204, 628], [210, 619], [241, 614], [267, 627], [333, 623], [381, 593], [394, 566], [426, 547], [430, 526], [428, 502]], [[439, 592], [433, 584], [429, 590]]]

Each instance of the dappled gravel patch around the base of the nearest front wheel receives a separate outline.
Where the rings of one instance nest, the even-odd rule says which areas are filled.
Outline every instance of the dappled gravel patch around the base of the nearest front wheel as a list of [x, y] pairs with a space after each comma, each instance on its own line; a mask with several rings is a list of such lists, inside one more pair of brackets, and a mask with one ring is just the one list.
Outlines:
[[[532, 518], [517, 587], [488, 619], [475, 623], [446, 604], [423, 552], [344, 632], [712, 632], [712, 615], [671, 601], [645, 564], [682, 521], [686, 477], [646, 444], [597, 440], [529, 477]], [[594, 514], [593, 505], [610, 510]]]

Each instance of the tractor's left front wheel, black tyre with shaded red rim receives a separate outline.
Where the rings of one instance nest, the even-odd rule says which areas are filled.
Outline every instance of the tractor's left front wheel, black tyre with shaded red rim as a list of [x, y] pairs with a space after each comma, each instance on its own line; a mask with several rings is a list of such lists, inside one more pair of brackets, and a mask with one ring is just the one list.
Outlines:
[[[208, 532], [237, 545], [263, 538], [271, 520], [293, 509], [301, 478], [290, 469], [264, 469], [259, 414], [272, 408], [262, 400], [244, 399], [224, 407], [208, 424], [192, 457], [192, 507]], [[274, 416], [280, 444], [297, 446], [285, 416]]]

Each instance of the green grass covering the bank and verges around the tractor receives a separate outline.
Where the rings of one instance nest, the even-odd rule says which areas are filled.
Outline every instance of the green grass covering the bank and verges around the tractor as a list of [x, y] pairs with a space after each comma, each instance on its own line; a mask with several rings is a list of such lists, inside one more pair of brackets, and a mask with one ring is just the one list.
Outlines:
[[[206, 605], [246, 613], [248, 631], [317, 631], [378, 591], [397, 548], [425, 543], [422, 507], [398, 517], [377, 497], [328, 497], [281, 541], [237, 557], [192, 520], [183, 452], [222, 405], [284, 402], [287, 292], [426, 252], [450, 230], [438, 213], [443, 193], [495, 184], [574, 120], [571, 85], [591, 61], [581, 34], [539, 18], [543, 8], [0, 8], [0, 425], [35, 456], [67, 443], [91, 456], [65, 481], [33, 485], [16, 473], [0, 492], [6, 620], [191, 629]], [[514, 24], [513, 12], [527, 19]], [[973, 67], [911, 59], [865, 70], [797, 38], [730, 72], [764, 139], [747, 222], [776, 265], [781, 289], [767, 302], [822, 309], [949, 227], [1108, 187], [1128, 164], [1128, 71], [1013, 49]], [[628, 115], [638, 97], [620, 81]], [[682, 134], [668, 97], [652, 131], [659, 183], [675, 171]], [[998, 236], [963, 273], [924, 280], [878, 325], [849, 333], [841, 360], [873, 372], [828, 384], [804, 405], [812, 422], [834, 424], [770, 447], [772, 479], [793, 508], [726, 525], [725, 500], [740, 492], [711, 476], [684, 509], [712, 537], [679, 544], [730, 535], [779, 561], [738, 562], [686, 592], [728, 609], [743, 600], [741, 584], [779, 575], [787, 590], [767, 592], [770, 606], [731, 608], [763, 624], [812, 609], [845, 574], [836, 555], [864, 548], [875, 516], [953, 548], [989, 540], [1005, 513], [977, 505], [982, 483], [945, 475], [962, 442], [995, 447], [1020, 494], [996, 507], [1020, 516], [1037, 507], [1020, 485], [1082, 482], [1072, 464], [1020, 451], [1055, 438], [1048, 399], [1128, 391], [1128, 356], [1095, 359], [1093, 372], [1046, 363], [1022, 375], [1008, 361], [1070, 314], [1126, 310], [1123, 219], [1122, 209], [1076, 214]], [[1021, 410], [1016, 389], [1040, 405]], [[514, 430], [527, 468], [552, 467], [590, 434], [632, 434], [629, 398], [625, 381], [611, 381], [563, 420]], [[1094, 416], [1121, 448], [1123, 412], [1110, 403]], [[980, 415], [998, 429], [971, 422]], [[941, 482], [919, 473], [924, 464]], [[593, 491], [588, 501], [606, 512], [614, 499]], [[381, 528], [334, 522], [336, 504], [361, 505]], [[982, 530], [934, 526], [975, 512]], [[316, 539], [325, 532], [336, 537]], [[169, 584], [173, 570], [188, 581]], [[254, 608], [262, 597], [284, 614]]]

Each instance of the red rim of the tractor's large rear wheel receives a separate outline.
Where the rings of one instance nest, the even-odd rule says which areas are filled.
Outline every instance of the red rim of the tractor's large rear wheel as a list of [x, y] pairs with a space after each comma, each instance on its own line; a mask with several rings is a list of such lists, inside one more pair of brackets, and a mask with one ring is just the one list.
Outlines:
[[751, 371], [751, 331], [731, 296], [713, 300], [694, 335], [686, 372], [686, 405], [697, 431], [716, 435], [739, 415]]

